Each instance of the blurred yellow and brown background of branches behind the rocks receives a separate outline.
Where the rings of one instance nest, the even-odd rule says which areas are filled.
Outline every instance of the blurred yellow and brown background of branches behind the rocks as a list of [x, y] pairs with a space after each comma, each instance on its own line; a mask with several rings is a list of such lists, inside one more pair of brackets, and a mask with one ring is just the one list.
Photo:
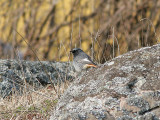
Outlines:
[[0, 8], [3, 59], [37, 60], [33, 49], [40, 60], [69, 61], [80, 47], [104, 63], [160, 41], [160, 0], [1, 0]]

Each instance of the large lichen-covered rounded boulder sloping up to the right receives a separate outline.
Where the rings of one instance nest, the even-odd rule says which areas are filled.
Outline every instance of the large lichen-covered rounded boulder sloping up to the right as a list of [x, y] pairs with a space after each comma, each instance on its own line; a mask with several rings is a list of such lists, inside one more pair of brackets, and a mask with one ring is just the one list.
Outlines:
[[50, 120], [159, 120], [160, 44], [114, 58], [74, 80]]

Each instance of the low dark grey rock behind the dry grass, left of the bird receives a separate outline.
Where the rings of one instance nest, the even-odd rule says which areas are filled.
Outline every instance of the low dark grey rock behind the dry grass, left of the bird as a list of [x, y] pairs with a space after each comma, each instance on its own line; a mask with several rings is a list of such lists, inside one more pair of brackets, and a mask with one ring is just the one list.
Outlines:
[[25, 84], [39, 89], [47, 84], [73, 80], [70, 63], [47, 61], [0, 60], [0, 96], [9, 96], [13, 89], [23, 93]]

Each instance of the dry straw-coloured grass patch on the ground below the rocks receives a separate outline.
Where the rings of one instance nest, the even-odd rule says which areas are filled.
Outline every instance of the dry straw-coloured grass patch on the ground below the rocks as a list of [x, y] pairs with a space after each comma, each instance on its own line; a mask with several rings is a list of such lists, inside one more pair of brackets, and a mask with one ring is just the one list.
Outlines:
[[[62, 94], [66, 87], [63, 84], [56, 89]], [[14, 94], [0, 101], [0, 119], [46, 120], [57, 102], [58, 96], [51, 85], [35, 92], [26, 92], [22, 96]]]

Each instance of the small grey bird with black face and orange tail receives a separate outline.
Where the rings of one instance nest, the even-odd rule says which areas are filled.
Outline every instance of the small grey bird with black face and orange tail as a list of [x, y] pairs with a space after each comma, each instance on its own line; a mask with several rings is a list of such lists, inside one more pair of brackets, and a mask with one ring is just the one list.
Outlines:
[[73, 66], [77, 72], [90, 67], [97, 67], [91, 58], [80, 48], [74, 48], [70, 52], [73, 54]]

